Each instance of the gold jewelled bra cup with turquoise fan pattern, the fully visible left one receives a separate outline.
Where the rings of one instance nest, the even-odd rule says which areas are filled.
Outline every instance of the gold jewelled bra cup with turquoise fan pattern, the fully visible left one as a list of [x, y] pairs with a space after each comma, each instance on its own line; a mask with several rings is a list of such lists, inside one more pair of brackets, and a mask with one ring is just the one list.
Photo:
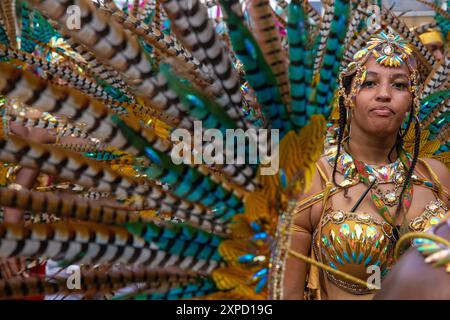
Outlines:
[[[313, 237], [313, 250], [320, 261], [363, 281], [371, 274], [367, 273], [369, 266], [378, 266], [381, 276], [385, 275], [394, 250], [393, 230], [388, 223], [364, 213], [336, 211], [326, 214], [320, 228], [320, 239], [318, 228]], [[327, 277], [354, 294], [370, 293], [367, 287], [348, 283], [331, 273]]]

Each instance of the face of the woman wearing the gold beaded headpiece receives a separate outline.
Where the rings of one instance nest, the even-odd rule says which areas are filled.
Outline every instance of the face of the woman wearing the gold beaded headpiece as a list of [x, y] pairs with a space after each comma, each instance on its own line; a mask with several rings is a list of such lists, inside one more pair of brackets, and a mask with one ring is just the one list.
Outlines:
[[373, 57], [365, 66], [366, 79], [354, 98], [351, 125], [369, 135], [397, 134], [412, 102], [408, 67], [385, 67]]

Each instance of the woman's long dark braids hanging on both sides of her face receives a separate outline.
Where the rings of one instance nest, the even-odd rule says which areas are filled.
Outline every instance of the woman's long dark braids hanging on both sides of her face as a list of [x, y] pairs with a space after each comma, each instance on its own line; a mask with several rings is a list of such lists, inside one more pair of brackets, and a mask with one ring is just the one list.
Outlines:
[[[353, 76], [346, 76], [346, 77], [342, 78], [342, 85], [344, 87], [344, 90], [347, 93], [350, 92], [352, 78], [353, 78]], [[344, 133], [345, 133], [345, 130], [347, 128], [348, 121], [349, 121], [349, 119], [347, 118], [347, 107], [345, 105], [345, 98], [344, 98], [343, 95], [339, 95], [338, 106], [339, 106], [338, 145], [337, 145], [337, 153], [336, 153], [336, 157], [334, 159], [334, 166], [333, 166], [333, 173], [332, 173], [332, 180], [333, 180], [333, 183], [336, 186], [339, 186], [339, 184], [336, 182], [337, 163], [338, 163], [338, 159], [339, 159], [339, 156], [340, 156], [340, 153], [341, 153]], [[394, 150], [394, 148], [397, 150], [397, 152], [402, 148], [402, 146], [403, 146], [403, 138], [406, 135], [406, 133], [408, 132], [409, 128], [411, 127], [412, 121], [414, 120], [415, 136], [414, 136], [413, 158], [412, 158], [412, 161], [411, 161], [411, 165], [409, 166], [409, 168], [407, 170], [407, 173], [406, 173], [406, 177], [405, 177], [405, 180], [404, 180], [404, 183], [403, 183], [402, 191], [400, 192], [400, 199], [403, 199], [406, 187], [408, 186], [409, 182], [411, 181], [411, 176], [412, 176], [412, 174], [414, 172], [414, 168], [415, 168], [415, 166], [417, 164], [417, 159], [418, 159], [418, 156], [419, 156], [420, 123], [419, 123], [419, 119], [417, 119], [414, 116], [416, 114], [416, 112], [418, 111], [418, 110], [416, 110], [416, 108], [418, 108], [418, 107], [419, 106], [416, 105], [415, 99], [413, 97], [412, 104], [411, 104], [411, 110], [410, 110], [410, 113], [409, 113], [408, 120], [406, 122], [406, 128], [403, 131], [403, 133], [401, 133], [401, 130], [399, 130], [399, 133], [397, 135], [396, 143], [392, 147], [392, 149], [390, 150], [389, 155], [388, 155], [388, 159], [389, 159], [389, 161], [391, 161], [390, 156], [391, 156], [392, 151]], [[395, 213], [396, 216], [401, 212], [402, 205], [403, 205], [403, 201], [399, 201], [399, 205], [398, 205], [396, 213]]]

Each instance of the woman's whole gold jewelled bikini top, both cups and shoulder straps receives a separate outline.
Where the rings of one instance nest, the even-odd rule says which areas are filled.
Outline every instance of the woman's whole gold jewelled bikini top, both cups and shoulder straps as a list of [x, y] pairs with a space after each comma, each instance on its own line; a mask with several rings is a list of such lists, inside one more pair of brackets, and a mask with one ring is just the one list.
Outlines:
[[[328, 182], [320, 166], [317, 167], [322, 179]], [[301, 211], [320, 200], [324, 201], [324, 208], [327, 208], [329, 197], [339, 191], [331, 188], [328, 195], [321, 193], [307, 199], [301, 205]], [[384, 277], [394, 262], [396, 239], [393, 227], [367, 213], [336, 211], [331, 207], [327, 209], [313, 233], [313, 258], [364, 282], [370, 280], [376, 269], [381, 278]], [[420, 216], [410, 221], [409, 229], [424, 231], [445, 218], [448, 218], [448, 208], [436, 197], [436, 200], [426, 205]], [[326, 270], [324, 272], [333, 284], [347, 292], [356, 295], [374, 292], [367, 286], [349, 282]]]

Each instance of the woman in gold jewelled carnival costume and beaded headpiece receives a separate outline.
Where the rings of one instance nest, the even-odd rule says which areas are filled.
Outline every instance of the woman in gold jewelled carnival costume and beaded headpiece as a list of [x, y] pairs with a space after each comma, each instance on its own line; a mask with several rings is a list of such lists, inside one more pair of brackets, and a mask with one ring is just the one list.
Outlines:
[[[367, 281], [378, 273], [380, 285], [399, 237], [448, 215], [448, 169], [418, 157], [420, 80], [413, 48], [381, 32], [355, 54], [339, 80], [337, 146], [319, 160], [314, 187], [294, 209], [286, 298], [301, 298], [307, 279], [308, 289], [321, 298], [370, 299], [376, 289]], [[410, 129], [412, 154], [403, 147]], [[312, 252], [329, 268], [308, 269], [297, 252]]]

